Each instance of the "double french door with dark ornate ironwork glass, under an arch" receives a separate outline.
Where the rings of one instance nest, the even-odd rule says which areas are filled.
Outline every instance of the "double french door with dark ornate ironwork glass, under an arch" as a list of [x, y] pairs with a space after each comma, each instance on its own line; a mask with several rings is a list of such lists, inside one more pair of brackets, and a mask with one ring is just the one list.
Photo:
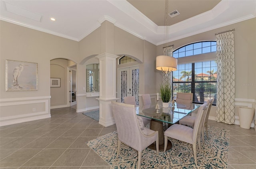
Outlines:
[[139, 67], [126, 67], [118, 70], [118, 97], [124, 102], [124, 97], [135, 96], [139, 105]]

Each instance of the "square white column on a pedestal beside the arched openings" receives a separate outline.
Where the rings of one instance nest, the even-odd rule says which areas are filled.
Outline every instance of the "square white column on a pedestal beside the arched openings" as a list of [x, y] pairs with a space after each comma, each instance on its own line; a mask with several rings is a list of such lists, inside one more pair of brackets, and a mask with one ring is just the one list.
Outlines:
[[111, 101], [116, 101], [116, 58], [117, 55], [102, 53], [98, 56], [100, 61], [100, 120], [102, 126], [116, 124]]

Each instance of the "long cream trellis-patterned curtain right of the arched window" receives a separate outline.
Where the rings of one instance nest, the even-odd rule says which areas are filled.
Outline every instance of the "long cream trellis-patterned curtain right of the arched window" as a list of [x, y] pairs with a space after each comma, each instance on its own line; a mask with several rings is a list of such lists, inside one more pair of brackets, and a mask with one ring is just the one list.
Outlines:
[[216, 35], [217, 38], [217, 102], [216, 121], [235, 122], [235, 59], [234, 31]]

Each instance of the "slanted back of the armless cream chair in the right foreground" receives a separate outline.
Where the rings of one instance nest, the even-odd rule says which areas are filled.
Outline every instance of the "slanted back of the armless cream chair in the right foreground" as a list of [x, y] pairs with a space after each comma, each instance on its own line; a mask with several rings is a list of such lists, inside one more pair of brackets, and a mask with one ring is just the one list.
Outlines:
[[196, 120], [193, 128], [193, 134], [192, 134], [192, 140], [196, 141], [196, 138], [200, 136], [200, 130], [201, 126], [203, 123], [203, 116], [206, 114], [207, 111], [207, 103], [202, 104], [202, 106], [199, 107], [197, 115], [196, 115]]

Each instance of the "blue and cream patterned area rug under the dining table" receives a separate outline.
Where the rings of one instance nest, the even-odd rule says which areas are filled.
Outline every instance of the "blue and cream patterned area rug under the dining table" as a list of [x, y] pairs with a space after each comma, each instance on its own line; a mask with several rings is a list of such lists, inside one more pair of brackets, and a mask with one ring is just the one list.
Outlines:
[[[230, 130], [208, 127], [209, 138], [202, 144], [202, 153], [197, 145], [198, 166], [194, 163], [192, 144], [171, 139], [172, 148], [159, 152], [146, 148], [142, 152], [141, 168], [143, 169], [226, 169], [228, 166], [228, 145]], [[106, 134], [97, 139], [86, 142], [102, 159], [114, 169], [137, 168], [138, 151], [122, 143], [120, 155], [116, 157], [117, 132]]]

